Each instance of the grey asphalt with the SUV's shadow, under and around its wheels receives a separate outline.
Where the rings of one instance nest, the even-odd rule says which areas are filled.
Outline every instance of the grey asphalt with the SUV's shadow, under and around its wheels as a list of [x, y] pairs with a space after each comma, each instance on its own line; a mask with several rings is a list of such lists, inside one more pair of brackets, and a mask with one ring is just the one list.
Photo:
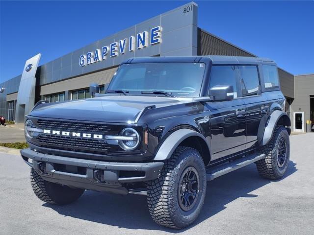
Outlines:
[[209, 182], [201, 215], [181, 231], [155, 224], [144, 196], [85, 191], [71, 205], [43, 203], [21, 157], [0, 153], [0, 234], [314, 234], [314, 133], [290, 141], [282, 180], [260, 178], [252, 164]]

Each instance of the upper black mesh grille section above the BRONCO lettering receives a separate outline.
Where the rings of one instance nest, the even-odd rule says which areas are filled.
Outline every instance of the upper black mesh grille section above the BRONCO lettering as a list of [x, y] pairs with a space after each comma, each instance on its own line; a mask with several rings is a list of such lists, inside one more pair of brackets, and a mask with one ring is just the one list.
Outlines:
[[46, 120], [38, 119], [38, 125], [43, 129], [70, 131], [70, 132], [87, 132], [103, 134], [111, 130], [108, 125], [101, 123], [72, 122], [63, 120]]

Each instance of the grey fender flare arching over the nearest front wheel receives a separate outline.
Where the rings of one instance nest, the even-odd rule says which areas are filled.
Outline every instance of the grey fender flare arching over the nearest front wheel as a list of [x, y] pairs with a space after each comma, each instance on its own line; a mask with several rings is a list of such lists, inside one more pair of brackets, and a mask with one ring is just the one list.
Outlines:
[[192, 136], [202, 138], [207, 143], [207, 146], [209, 148], [209, 143], [202, 134], [191, 129], [183, 128], [171, 133], [168, 136], [168, 138], [165, 141], [163, 141], [163, 143], [161, 144], [157, 151], [157, 154], [155, 155], [154, 161], [163, 161], [169, 159], [173, 152], [175, 151], [175, 149], [179, 146], [179, 144], [186, 138]]

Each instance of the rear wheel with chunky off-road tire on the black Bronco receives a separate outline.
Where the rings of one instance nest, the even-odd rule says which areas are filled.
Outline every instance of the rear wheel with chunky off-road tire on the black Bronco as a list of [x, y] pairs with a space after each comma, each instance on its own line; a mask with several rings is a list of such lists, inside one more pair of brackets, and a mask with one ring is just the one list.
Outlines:
[[289, 134], [284, 126], [276, 126], [274, 134], [268, 144], [260, 151], [266, 155], [256, 163], [257, 169], [263, 178], [281, 179], [288, 169], [290, 158]]

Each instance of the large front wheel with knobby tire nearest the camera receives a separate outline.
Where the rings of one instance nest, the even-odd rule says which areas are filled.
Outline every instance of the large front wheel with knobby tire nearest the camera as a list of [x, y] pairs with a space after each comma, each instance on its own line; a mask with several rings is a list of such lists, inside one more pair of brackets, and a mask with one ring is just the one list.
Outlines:
[[199, 215], [206, 194], [206, 170], [200, 153], [179, 146], [160, 176], [148, 182], [149, 212], [160, 225], [182, 229]]

